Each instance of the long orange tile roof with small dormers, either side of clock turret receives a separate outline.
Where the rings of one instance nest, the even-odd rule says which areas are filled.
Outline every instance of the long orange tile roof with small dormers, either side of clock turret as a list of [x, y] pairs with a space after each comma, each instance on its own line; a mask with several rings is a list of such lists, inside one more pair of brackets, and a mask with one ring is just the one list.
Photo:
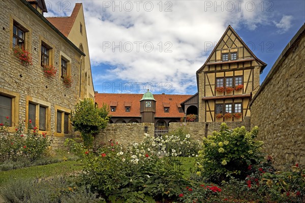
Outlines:
[[[143, 94], [112, 94], [112, 93], [97, 93], [95, 94], [96, 103], [101, 107], [103, 103], [114, 105], [116, 103], [115, 112], [110, 112], [112, 117], [141, 117], [140, 100]], [[192, 95], [178, 94], [154, 94], [156, 99], [156, 114], [157, 118], [180, 118], [184, 113], [179, 113], [178, 107], [180, 103]], [[130, 105], [130, 106], [129, 106]], [[164, 106], [165, 105], [165, 106]], [[130, 107], [130, 112], [126, 112], [125, 107]], [[164, 112], [164, 107], [169, 107], [169, 112]]]

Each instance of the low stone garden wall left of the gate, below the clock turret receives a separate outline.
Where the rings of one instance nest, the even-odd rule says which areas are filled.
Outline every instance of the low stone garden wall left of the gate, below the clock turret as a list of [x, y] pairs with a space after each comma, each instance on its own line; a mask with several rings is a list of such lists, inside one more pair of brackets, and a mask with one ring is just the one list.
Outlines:
[[139, 143], [144, 139], [145, 126], [148, 127], [147, 134], [154, 136], [154, 123], [107, 124], [107, 127], [96, 136], [95, 143], [107, 143], [111, 139], [125, 146], [132, 142]]

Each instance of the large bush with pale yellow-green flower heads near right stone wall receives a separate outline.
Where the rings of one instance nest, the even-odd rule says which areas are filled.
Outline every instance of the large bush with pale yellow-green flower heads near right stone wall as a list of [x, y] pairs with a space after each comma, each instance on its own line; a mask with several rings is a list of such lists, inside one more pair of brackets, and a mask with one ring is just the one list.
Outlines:
[[221, 182], [227, 175], [245, 179], [248, 166], [263, 160], [263, 142], [255, 140], [257, 133], [257, 126], [249, 132], [244, 126], [229, 130], [222, 123], [220, 132], [203, 139], [197, 175], [213, 182]]

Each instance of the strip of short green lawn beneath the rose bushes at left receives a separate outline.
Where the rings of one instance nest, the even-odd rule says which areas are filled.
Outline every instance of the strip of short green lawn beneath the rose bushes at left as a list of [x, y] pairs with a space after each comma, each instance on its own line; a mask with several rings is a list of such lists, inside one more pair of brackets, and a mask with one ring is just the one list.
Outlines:
[[79, 162], [64, 161], [48, 165], [37, 165], [16, 170], [3, 171], [0, 172], [0, 186], [10, 182], [11, 180], [43, 178], [80, 170], [82, 170], [82, 166]]

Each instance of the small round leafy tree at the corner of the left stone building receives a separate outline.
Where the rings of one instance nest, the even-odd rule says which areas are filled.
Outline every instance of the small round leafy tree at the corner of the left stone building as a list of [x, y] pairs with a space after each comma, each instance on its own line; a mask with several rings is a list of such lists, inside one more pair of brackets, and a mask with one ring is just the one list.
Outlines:
[[99, 108], [93, 99], [84, 98], [74, 109], [71, 113], [73, 129], [80, 131], [84, 145], [90, 147], [96, 134], [105, 128], [109, 121], [109, 108], [105, 104]]

